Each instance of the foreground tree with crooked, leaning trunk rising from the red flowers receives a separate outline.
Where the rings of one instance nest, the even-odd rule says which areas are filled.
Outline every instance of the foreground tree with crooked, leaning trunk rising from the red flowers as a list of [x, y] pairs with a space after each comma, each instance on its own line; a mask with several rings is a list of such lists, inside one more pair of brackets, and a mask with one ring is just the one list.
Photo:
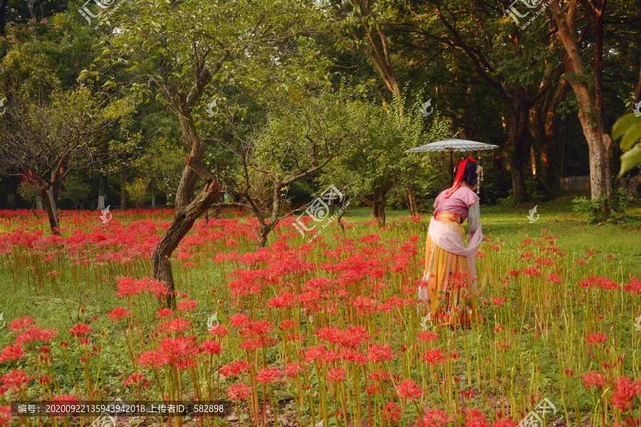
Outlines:
[[[189, 151], [174, 217], [152, 255], [154, 277], [173, 291], [170, 256], [194, 221], [220, 198], [216, 176], [203, 164], [206, 146], [196, 125], [197, 110], [204, 105], [211, 110], [214, 93], [220, 90], [214, 89], [219, 79], [249, 80], [252, 73], [262, 72], [264, 63], [280, 63], [280, 68], [270, 68], [279, 73], [287, 73], [292, 63], [313, 65], [317, 52], [308, 48], [304, 35], [328, 17], [295, 0], [260, 4], [252, 0], [141, 0], [123, 6], [110, 19], [118, 32], [103, 41], [101, 59], [133, 67], [139, 65], [133, 61], [140, 61], [140, 75], [132, 88], [140, 89], [141, 94], [148, 93], [148, 85], [160, 88], [180, 122], [179, 141]], [[294, 42], [296, 58], [279, 51], [283, 44]], [[206, 93], [212, 96], [209, 102], [202, 100]], [[192, 200], [198, 179], [205, 185]]]

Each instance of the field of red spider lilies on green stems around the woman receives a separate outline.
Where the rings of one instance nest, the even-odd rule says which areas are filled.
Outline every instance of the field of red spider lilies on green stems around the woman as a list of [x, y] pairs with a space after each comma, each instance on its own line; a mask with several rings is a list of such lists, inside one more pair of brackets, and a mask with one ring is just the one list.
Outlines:
[[226, 212], [174, 253], [167, 307], [150, 258], [171, 214], [63, 211], [51, 236], [0, 211], [0, 425], [95, 422], [12, 401], [114, 399], [233, 406], [133, 426], [641, 425], [641, 280], [615, 254], [568, 255], [545, 229], [516, 247], [486, 236], [484, 322], [451, 330], [417, 307], [425, 218], [313, 243], [283, 221], [256, 251], [256, 221]]

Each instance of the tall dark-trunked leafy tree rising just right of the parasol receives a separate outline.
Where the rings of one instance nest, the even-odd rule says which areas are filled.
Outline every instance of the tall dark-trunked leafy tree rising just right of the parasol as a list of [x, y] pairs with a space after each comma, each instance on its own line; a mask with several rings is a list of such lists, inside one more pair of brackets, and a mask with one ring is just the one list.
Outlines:
[[467, 56], [479, 78], [503, 100], [513, 196], [517, 202], [526, 200], [523, 164], [532, 140], [529, 111], [552, 85], [533, 85], [534, 81], [541, 81], [545, 69], [543, 37], [529, 28], [526, 37], [514, 27], [504, 13], [504, 5], [497, 0], [464, 4], [450, 0], [412, 1], [409, 7], [399, 9], [404, 11], [402, 31], [414, 38], [415, 46], [437, 43]]

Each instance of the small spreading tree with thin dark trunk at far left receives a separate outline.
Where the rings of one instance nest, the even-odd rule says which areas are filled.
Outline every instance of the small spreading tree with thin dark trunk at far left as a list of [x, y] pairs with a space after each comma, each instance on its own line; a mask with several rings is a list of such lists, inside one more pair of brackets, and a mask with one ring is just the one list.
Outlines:
[[72, 170], [92, 166], [103, 147], [95, 139], [129, 114], [135, 102], [103, 101], [87, 87], [54, 87], [51, 100], [26, 93], [14, 93], [12, 100], [11, 109], [0, 117], [0, 167], [5, 173], [28, 172], [40, 191], [51, 232], [59, 234], [54, 188]]

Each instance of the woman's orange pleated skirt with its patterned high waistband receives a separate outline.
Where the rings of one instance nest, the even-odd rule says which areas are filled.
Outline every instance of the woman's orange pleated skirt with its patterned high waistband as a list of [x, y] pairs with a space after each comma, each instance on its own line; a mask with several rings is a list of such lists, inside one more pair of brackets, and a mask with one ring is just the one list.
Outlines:
[[[461, 236], [461, 241], [464, 241], [465, 231], [457, 214], [441, 212], [436, 219], [454, 228]], [[431, 312], [435, 325], [469, 327], [471, 322], [479, 320], [471, 292], [467, 258], [439, 248], [429, 234], [425, 243], [425, 269], [418, 294], [423, 316]]]

